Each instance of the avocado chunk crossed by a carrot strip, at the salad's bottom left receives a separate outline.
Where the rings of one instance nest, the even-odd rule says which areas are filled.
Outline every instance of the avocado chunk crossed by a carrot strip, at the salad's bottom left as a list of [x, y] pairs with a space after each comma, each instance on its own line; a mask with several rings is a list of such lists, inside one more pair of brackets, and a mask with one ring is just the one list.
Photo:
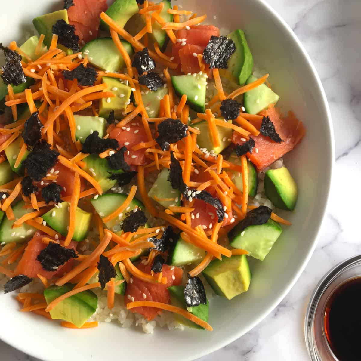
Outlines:
[[[56, 298], [71, 291], [73, 285], [65, 284], [64, 286], [50, 286], [45, 288], [44, 297], [47, 304]], [[97, 295], [90, 291], [79, 292], [59, 302], [51, 311], [52, 319], [63, 319], [73, 323], [77, 327], [82, 327], [90, 316], [95, 313], [98, 307]]]

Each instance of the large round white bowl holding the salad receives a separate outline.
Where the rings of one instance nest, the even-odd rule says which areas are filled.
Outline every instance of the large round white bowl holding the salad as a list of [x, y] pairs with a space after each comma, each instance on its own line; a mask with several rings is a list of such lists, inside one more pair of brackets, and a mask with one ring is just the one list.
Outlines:
[[[244, 29], [255, 62], [270, 73], [279, 105], [292, 109], [307, 134], [286, 165], [299, 185], [292, 221], [264, 262], [253, 262], [249, 291], [210, 307], [213, 332], [156, 330], [145, 335], [116, 324], [97, 329], [64, 329], [38, 316], [18, 312], [13, 295], [0, 295], [0, 337], [32, 356], [64, 360], [193, 360], [229, 344], [257, 325], [283, 299], [305, 268], [315, 246], [329, 195], [334, 142], [331, 116], [316, 70], [290, 27], [261, 0], [180, 0], [184, 9], [207, 11], [209, 23]], [[4, 1], [0, 12], [1, 41], [23, 39], [34, 17], [60, 9], [62, 0]], [[213, 20], [216, 15], [217, 19]], [[302, 292], [302, 290], [300, 290]]]

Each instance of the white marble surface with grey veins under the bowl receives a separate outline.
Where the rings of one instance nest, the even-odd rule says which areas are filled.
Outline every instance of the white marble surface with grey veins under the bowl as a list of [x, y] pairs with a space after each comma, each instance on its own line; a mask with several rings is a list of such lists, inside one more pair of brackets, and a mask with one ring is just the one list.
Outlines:
[[[313, 288], [344, 258], [361, 252], [361, 1], [268, 0], [305, 46], [326, 91], [336, 166], [316, 251], [291, 292], [252, 331], [199, 361], [306, 361], [303, 324]], [[0, 341], [0, 359], [38, 361]]]

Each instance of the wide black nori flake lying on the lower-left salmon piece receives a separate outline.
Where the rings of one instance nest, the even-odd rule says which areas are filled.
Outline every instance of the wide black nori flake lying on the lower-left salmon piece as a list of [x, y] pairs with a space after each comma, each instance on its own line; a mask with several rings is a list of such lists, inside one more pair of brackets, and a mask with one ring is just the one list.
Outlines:
[[[56, 271], [59, 266], [64, 265], [70, 258], [78, 258], [72, 248], [62, 247], [55, 242], [49, 244], [41, 251], [36, 259], [42, 264], [45, 271]], [[55, 268], [56, 267], [56, 268]]]

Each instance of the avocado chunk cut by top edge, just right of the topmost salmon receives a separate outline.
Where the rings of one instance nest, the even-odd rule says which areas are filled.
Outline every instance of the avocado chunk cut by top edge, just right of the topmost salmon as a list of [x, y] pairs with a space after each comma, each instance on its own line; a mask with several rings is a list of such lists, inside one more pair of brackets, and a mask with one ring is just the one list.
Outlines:
[[[109, 6], [105, 14], [112, 18], [120, 27], [124, 28], [127, 21], [138, 11], [139, 8], [136, 0], [116, 0]], [[100, 20], [100, 28], [105, 31], [109, 30], [108, 24], [103, 20]]]

